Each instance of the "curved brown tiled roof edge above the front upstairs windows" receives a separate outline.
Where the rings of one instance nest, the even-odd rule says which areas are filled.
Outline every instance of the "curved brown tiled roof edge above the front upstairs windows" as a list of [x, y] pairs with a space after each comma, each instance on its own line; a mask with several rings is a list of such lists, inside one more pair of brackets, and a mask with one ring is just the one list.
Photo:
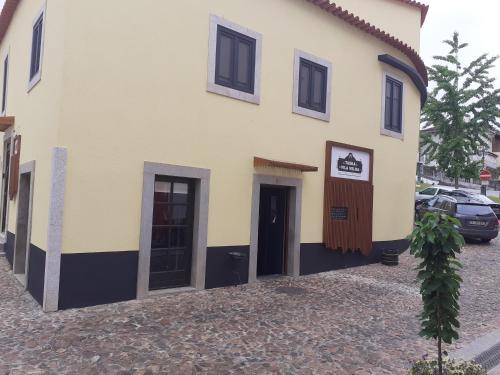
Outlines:
[[[328, 12], [331, 15], [342, 19], [343, 21], [349, 23], [350, 25], [360, 29], [361, 31], [373, 35], [375, 38], [401, 51], [415, 65], [417, 72], [420, 74], [425, 84], [426, 85], [429, 84], [429, 77], [427, 74], [427, 68], [425, 66], [424, 61], [422, 60], [418, 52], [415, 51], [415, 49], [410, 47], [408, 44], [404, 43], [403, 41], [394, 37], [393, 35], [385, 32], [384, 30], [375, 27], [370, 22], [362, 18], [359, 18], [354, 13], [351, 13], [346, 9], [342, 9], [341, 6], [338, 6], [335, 3], [331, 3], [330, 0], [306, 0], [306, 1], [312, 3], [313, 5], [316, 5], [317, 7], [320, 7], [325, 12]], [[412, 1], [412, 0], [401, 0], [401, 1]]]

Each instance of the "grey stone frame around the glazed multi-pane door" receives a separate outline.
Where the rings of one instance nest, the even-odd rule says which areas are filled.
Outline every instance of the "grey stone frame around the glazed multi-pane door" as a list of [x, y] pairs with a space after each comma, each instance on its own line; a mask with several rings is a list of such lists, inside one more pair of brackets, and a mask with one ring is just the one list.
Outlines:
[[[157, 175], [189, 178], [195, 181], [191, 286], [187, 288], [162, 289], [155, 291], [149, 290], [154, 185]], [[151, 295], [172, 293], [181, 290], [184, 291], [205, 289], [209, 186], [209, 169], [144, 162], [139, 262], [137, 272], [138, 299], [143, 299]]]

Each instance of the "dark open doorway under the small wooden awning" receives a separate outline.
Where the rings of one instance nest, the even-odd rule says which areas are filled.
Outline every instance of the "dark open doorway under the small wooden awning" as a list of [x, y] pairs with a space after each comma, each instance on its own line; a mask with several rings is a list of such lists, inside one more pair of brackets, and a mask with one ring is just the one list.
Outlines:
[[287, 189], [261, 187], [257, 276], [286, 273], [287, 202]]

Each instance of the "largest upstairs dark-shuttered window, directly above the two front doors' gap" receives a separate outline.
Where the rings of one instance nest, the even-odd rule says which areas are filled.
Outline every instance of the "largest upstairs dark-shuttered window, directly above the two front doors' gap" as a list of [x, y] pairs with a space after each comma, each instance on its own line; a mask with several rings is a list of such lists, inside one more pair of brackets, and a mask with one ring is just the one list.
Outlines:
[[254, 94], [257, 41], [244, 34], [217, 26], [215, 83]]

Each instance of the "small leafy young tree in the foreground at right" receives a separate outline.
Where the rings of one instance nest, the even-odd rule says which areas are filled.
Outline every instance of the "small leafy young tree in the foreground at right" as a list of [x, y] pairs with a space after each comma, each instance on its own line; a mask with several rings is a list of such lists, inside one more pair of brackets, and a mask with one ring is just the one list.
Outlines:
[[424, 304], [420, 314], [420, 335], [437, 340], [439, 374], [443, 374], [442, 342], [458, 339], [460, 327], [460, 278], [462, 265], [457, 255], [464, 239], [456, 226], [460, 222], [450, 216], [428, 213], [415, 224], [410, 236], [411, 254], [421, 260], [417, 267], [420, 294]]

